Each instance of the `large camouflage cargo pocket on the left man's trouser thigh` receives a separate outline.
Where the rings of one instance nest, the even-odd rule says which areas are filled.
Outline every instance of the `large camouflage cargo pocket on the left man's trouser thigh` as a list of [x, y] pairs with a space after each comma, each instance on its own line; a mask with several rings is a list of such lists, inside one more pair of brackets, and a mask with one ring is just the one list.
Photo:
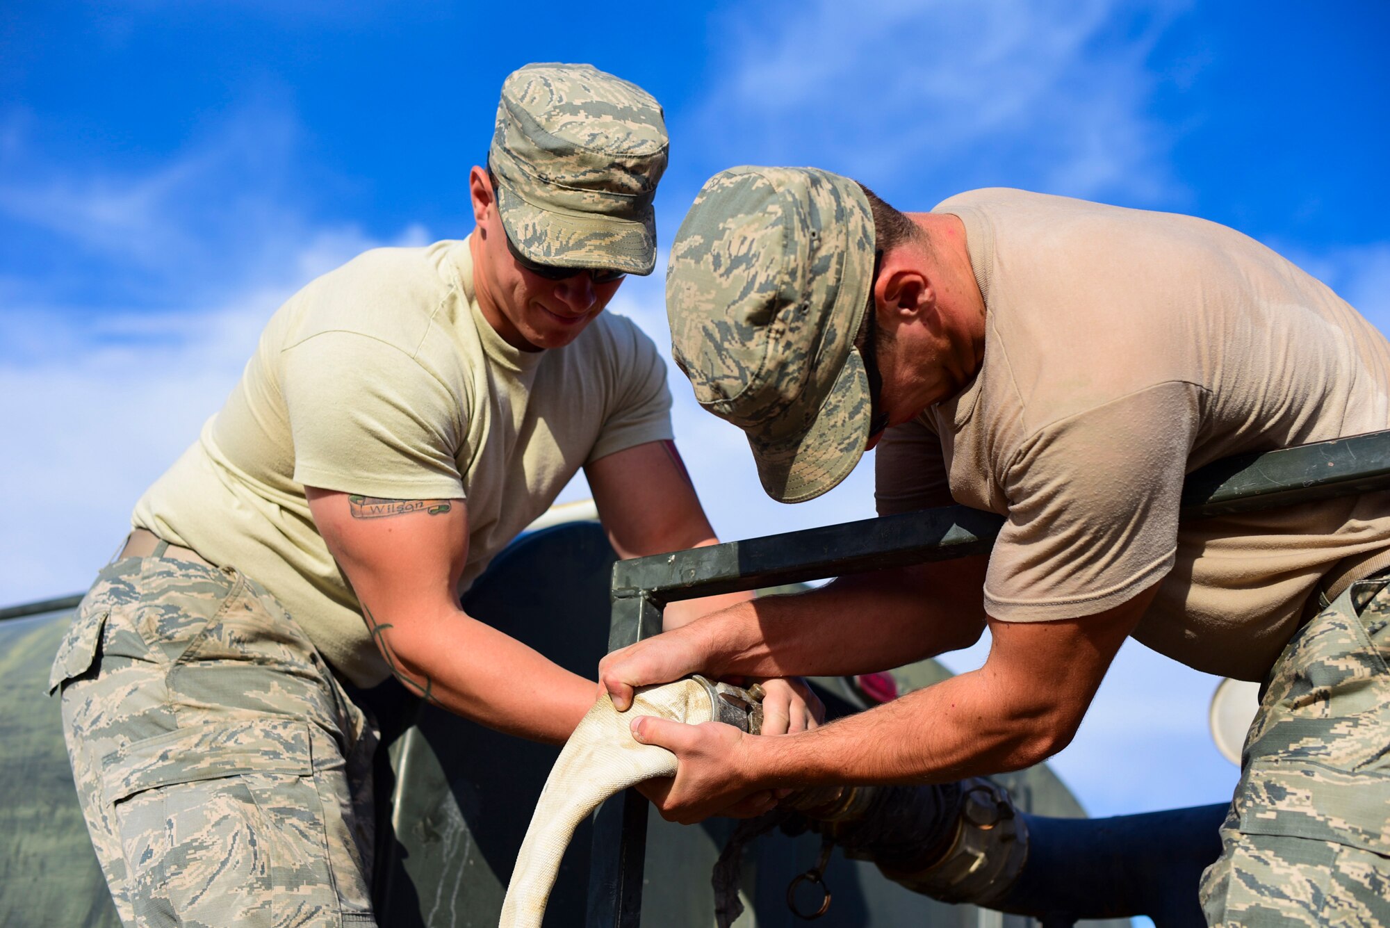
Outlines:
[[360, 911], [335, 888], [310, 739], [307, 722], [261, 717], [104, 759], [139, 924], [338, 924]]

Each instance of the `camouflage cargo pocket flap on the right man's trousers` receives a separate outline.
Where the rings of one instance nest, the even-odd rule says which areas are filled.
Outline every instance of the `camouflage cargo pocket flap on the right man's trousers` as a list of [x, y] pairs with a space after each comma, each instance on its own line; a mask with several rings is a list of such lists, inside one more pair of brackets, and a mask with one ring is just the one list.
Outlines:
[[1390, 856], [1390, 772], [1257, 760], [1237, 795], [1247, 835], [1329, 840]]

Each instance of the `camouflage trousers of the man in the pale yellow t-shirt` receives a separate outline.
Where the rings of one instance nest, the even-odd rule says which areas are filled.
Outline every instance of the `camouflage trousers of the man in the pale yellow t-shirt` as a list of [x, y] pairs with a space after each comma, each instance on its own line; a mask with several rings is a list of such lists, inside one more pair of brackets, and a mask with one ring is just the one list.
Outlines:
[[264, 588], [163, 553], [97, 575], [49, 681], [121, 920], [375, 925], [375, 731]]

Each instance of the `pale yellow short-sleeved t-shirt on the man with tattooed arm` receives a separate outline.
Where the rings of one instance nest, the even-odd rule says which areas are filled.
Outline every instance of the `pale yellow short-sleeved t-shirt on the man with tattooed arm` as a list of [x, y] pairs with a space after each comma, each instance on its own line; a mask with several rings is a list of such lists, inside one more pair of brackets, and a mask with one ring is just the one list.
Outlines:
[[271, 318], [227, 404], [145, 493], [133, 524], [263, 583], [359, 685], [386, 677], [304, 486], [464, 497], [460, 593], [587, 463], [671, 438], [666, 365], [603, 313], [518, 351], [478, 310], [467, 240], [378, 249]]

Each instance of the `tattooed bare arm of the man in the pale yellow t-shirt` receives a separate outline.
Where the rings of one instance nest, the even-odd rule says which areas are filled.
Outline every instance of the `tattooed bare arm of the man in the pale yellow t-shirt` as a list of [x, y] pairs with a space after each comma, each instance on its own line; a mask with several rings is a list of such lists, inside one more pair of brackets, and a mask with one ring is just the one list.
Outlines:
[[373, 640], [411, 692], [498, 731], [563, 743], [594, 683], [459, 607], [468, 554], [461, 499], [381, 500], [306, 488]]

